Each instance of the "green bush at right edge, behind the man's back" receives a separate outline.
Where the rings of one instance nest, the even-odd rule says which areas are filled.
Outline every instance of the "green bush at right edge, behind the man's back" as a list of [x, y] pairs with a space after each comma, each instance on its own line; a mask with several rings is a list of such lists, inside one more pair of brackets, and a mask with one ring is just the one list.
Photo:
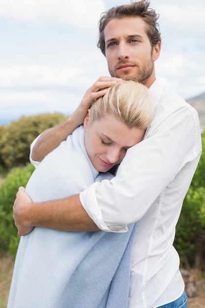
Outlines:
[[205, 134], [203, 152], [176, 225], [175, 247], [181, 266], [205, 270]]

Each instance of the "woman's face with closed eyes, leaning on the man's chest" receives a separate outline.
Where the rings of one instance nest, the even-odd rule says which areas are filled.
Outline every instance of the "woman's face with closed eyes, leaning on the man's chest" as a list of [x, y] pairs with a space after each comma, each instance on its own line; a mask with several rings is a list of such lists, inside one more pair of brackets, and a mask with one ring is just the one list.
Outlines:
[[127, 149], [142, 141], [145, 130], [129, 128], [113, 115], [89, 123], [84, 121], [85, 146], [88, 156], [99, 172], [106, 172], [124, 158]]

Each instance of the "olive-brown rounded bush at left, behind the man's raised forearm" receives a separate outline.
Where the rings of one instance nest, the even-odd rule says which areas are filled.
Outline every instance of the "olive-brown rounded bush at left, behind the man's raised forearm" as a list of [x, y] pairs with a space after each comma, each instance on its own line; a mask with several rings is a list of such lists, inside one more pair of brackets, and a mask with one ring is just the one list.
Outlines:
[[31, 142], [42, 131], [64, 120], [65, 116], [59, 113], [42, 114], [0, 126], [0, 171], [25, 165], [29, 161]]

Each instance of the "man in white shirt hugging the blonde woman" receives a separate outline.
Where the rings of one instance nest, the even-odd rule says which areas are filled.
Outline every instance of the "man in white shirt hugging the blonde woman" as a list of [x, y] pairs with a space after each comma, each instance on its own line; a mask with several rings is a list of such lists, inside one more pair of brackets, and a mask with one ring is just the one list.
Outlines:
[[41, 161], [83, 122], [90, 102], [120, 79], [138, 80], [149, 88], [155, 116], [143, 142], [127, 151], [112, 182], [95, 183], [63, 200], [32, 204], [23, 188], [14, 203], [19, 234], [34, 226], [58, 230], [125, 232], [138, 221], [135, 236], [129, 308], [187, 305], [179, 257], [173, 246], [184, 196], [201, 155], [197, 112], [156, 81], [154, 62], [160, 55], [157, 18], [142, 0], [111, 8], [102, 15], [99, 41], [111, 76], [88, 89], [74, 114], [44, 132], [31, 152]]

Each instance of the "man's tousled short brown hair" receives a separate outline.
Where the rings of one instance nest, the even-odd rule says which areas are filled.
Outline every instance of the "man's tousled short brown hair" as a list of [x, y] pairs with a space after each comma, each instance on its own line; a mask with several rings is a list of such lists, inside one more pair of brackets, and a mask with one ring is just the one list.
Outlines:
[[130, 4], [118, 5], [102, 13], [98, 23], [99, 40], [97, 43], [97, 47], [100, 48], [104, 56], [105, 56], [105, 36], [104, 36], [105, 27], [111, 19], [123, 18], [123, 17], [142, 18], [146, 23], [146, 34], [149, 38], [151, 46], [153, 47], [158, 42], [161, 42], [161, 33], [158, 30], [159, 24], [157, 23], [159, 14], [156, 14], [155, 10], [149, 8], [148, 0], [142, 0]]

